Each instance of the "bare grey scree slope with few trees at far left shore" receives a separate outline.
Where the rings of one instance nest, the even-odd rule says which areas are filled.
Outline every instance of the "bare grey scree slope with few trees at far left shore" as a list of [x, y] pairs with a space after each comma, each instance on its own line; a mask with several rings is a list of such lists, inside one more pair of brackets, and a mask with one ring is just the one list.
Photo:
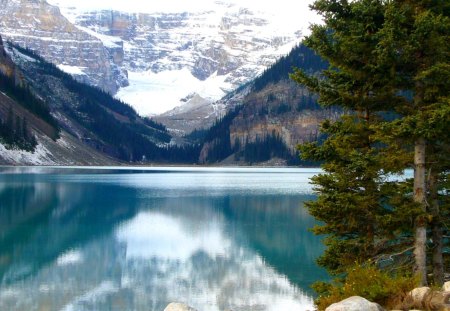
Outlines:
[[[56, 122], [52, 122], [55, 119], [51, 117], [48, 119], [42, 112], [36, 113], [36, 109], [29, 105], [30, 98], [20, 98], [20, 94], [27, 90], [28, 83], [24, 73], [6, 53], [1, 37], [0, 77], [2, 82], [0, 127], [6, 128], [6, 133], [0, 132], [0, 165], [111, 165], [117, 163], [110, 157], [86, 146], [66, 131], [60, 130], [55, 125]], [[17, 92], [11, 92], [11, 86], [6, 87], [5, 82], [8, 78], [18, 87], [19, 95]], [[26, 100], [22, 100], [23, 98]], [[39, 100], [33, 101], [34, 106], [37, 102]], [[18, 137], [11, 137], [17, 136], [17, 125], [20, 120], [26, 120], [27, 125], [22, 124], [23, 129], [19, 128], [19, 130], [27, 131], [31, 140], [35, 140], [31, 145], [17, 144], [20, 143]], [[11, 122], [12, 126], [8, 126], [8, 122]], [[12, 141], [8, 142], [8, 139], [5, 141], [5, 136], [12, 138]]]

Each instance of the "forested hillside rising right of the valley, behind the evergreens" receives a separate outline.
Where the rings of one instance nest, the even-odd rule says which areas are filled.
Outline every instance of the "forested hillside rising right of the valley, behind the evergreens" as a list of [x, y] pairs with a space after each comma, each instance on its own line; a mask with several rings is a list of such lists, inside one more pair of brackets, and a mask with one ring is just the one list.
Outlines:
[[320, 139], [321, 120], [338, 113], [322, 109], [317, 96], [289, 79], [296, 67], [320, 74], [328, 65], [304, 45], [295, 47], [250, 84], [241, 105], [204, 133], [200, 162], [228, 158], [231, 163], [254, 164], [278, 158], [284, 164], [299, 164], [296, 145]]

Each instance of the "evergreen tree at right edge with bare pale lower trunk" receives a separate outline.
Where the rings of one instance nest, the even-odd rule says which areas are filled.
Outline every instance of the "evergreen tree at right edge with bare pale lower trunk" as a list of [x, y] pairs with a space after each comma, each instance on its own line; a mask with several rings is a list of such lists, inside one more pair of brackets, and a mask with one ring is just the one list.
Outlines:
[[387, 128], [414, 146], [414, 201], [423, 212], [416, 219], [415, 272], [421, 283], [427, 284], [426, 241], [431, 218], [434, 282], [442, 284], [444, 227], [439, 220], [441, 204], [437, 198], [449, 163], [445, 150], [448, 151], [450, 119], [450, 3], [389, 2], [381, 39], [380, 55], [390, 69], [391, 81], [398, 90], [412, 94], [394, 107], [402, 118]]

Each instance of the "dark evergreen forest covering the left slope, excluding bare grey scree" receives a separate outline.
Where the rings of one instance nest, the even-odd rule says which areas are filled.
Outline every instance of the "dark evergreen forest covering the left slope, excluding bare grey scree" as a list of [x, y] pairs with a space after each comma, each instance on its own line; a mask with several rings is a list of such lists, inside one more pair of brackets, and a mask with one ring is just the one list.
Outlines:
[[[37, 129], [30, 130], [27, 119], [32, 116], [33, 121], [37, 118], [54, 129], [44, 131], [54, 141], [62, 130], [78, 147], [84, 145], [119, 161], [197, 161], [198, 145], [170, 145], [171, 136], [163, 125], [140, 117], [108, 93], [76, 81], [30, 50], [11, 43], [5, 47], [0, 91], [7, 97], [0, 107], [0, 139], [6, 148], [35, 151]], [[22, 109], [28, 111], [26, 116]], [[57, 157], [51, 163], [58, 163]]]

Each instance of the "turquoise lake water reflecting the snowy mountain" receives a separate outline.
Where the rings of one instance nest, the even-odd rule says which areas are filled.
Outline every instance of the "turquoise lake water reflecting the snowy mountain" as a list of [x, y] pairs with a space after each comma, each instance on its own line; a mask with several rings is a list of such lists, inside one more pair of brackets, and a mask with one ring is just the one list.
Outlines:
[[0, 310], [312, 310], [317, 172], [0, 168]]

